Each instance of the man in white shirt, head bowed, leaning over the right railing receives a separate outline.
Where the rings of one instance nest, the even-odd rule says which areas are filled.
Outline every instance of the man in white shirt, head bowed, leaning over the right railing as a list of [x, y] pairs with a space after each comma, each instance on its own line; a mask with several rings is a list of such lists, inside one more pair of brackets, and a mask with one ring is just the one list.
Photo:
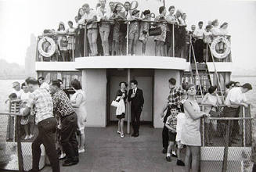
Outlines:
[[[250, 91], [252, 89], [251, 84], [246, 83], [243, 84], [242, 87], [232, 88], [226, 99], [225, 99], [225, 107], [223, 109], [223, 113], [225, 117], [239, 117], [240, 106], [244, 106], [247, 108], [250, 103], [247, 101], [244, 93]], [[239, 133], [239, 125], [238, 120], [230, 120], [229, 123], [229, 145], [232, 143], [236, 143], [235, 140], [236, 134]]]

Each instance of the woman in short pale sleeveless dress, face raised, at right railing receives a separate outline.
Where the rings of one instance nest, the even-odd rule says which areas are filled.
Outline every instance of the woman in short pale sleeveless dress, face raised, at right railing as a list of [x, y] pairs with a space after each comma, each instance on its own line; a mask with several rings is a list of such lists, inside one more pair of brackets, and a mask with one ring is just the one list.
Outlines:
[[184, 102], [184, 111], [186, 120], [182, 127], [181, 142], [186, 145], [186, 172], [197, 172], [200, 161], [200, 118], [206, 116], [205, 113], [200, 112], [200, 107], [197, 104], [196, 94], [197, 89], [195, 85], [189, 84], [186, 87], [187, 99]]

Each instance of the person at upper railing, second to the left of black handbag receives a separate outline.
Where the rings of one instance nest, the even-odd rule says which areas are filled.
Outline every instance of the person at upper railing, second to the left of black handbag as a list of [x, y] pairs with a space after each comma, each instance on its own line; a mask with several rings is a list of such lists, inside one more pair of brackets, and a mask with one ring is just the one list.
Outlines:
[[135, 9], [132, 12], [132, 19], [130, 24], [130, 30], [129, 30], [129, 56], [132, 55], [132, 49], [133, 54], [136, 52], [137, 42], [139, 39], [139, 21], [141, 20], [139, 18], [139, 10]]

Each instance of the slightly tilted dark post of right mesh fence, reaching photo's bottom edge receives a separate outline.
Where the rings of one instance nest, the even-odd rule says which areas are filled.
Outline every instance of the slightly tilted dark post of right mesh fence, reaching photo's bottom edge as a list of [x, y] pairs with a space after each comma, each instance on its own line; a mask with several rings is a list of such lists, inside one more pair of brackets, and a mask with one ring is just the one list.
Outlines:
[[226, 172], [228, 167], [229, 125], [230, 125], [230, 120], [228, 124], [225, 126], [226, 127], [225, 128], [225, 147], [224, 147], [224, 154], [223, 154], [222, 172]]

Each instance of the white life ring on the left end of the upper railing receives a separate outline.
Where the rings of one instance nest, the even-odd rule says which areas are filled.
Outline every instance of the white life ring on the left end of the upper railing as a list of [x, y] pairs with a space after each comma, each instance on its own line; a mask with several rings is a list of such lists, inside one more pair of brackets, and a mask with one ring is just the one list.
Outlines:
[[[46, 52], [43, 49], [43, 45], [45, 44], [45, 42], [49, 42], [49, 50]], [[50, 57], [54, 54], [54, 52], [56, 52], [56, 43], [52, 38], [49, 37], [43, 37], [38, 41], [38, 52], [41, 54], [41, 56], [44, 57]]]

